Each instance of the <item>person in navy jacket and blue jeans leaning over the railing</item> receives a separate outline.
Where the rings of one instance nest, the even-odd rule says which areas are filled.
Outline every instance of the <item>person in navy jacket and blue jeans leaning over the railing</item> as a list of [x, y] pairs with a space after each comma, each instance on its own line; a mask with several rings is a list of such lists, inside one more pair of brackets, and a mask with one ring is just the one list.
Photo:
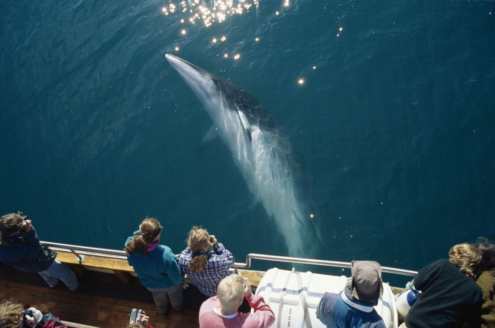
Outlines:
[[55, 260], [57, 253], [39, 243], [31, 220], [20, 214], [10, 213], [1, 217], [0, 262], [18, 270], [37, 272], [52, 288], [58, 284], [58, 280], [71, 291], [87, 288], [89, 282], [79, 284], [72, 270]]

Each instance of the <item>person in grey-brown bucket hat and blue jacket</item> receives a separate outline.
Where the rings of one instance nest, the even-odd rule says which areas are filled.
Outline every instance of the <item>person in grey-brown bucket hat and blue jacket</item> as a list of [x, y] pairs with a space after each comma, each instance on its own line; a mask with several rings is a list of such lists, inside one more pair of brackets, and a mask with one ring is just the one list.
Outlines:
[[373, 308], [383, 294], [380, 265], [372, 261], [352, 261], [351, 275], [341, 293], [323, 295], [316, 317], [328, 328], [385, 328]]

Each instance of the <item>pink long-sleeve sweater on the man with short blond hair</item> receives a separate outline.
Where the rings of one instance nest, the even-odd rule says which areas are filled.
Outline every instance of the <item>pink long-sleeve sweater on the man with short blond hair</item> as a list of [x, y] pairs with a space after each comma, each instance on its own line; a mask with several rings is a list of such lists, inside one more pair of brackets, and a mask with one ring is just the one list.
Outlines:
[[215, 312], [221, 307], [218, 296], [209, 298], [201, 305], [200, 328], [266, 328], [275, 322], [273, 311], [260, 295], [251, 294], [248, 302], [254, 313], [238, 313], [228, 319]]

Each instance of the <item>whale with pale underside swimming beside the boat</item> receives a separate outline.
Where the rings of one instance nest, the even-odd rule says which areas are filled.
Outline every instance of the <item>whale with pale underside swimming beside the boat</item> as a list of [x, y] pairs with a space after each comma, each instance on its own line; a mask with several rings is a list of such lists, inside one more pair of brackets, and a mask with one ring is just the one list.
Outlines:
[[298, 197], [300, 170], [273, 117], [241, 87], [172, 54], [165, 57], [213, 120], [203, 144], [216, 137], [224, 141], [255, 200], [275, 221], [290, 256], [316, 255], [318, 234]]

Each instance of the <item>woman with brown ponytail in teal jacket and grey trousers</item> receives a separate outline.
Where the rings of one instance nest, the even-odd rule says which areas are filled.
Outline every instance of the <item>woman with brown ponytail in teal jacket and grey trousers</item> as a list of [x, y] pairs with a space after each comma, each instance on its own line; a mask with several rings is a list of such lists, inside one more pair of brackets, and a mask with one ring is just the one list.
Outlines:
[[139, 281], [153, 293], [157, 311], [166, 313], [169, 303], [174, 310], [182, 309], [184, 274], [172, 250], [159, 245], [161, 233], [157, 219], [144, 219], [139, 230], [127, 238], [125, 251]]

